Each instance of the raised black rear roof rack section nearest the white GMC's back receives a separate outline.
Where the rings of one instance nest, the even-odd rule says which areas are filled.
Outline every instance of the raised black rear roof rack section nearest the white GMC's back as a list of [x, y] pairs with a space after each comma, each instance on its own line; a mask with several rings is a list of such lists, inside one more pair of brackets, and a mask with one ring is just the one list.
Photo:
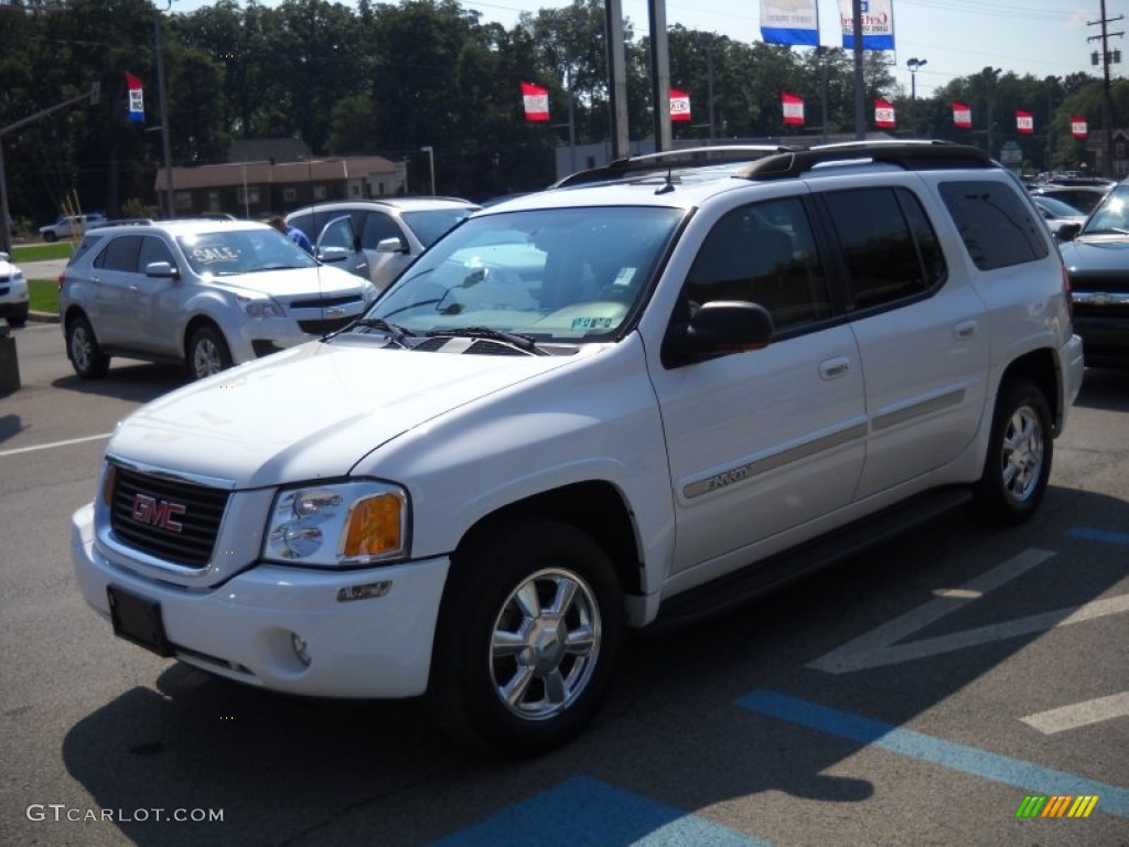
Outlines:
[[753, 161], [735, 176], [746, 180], [782, 180], [804, 174], [829, 161], [881, 161], [907, 171], [940, 167], [992, 167], [992, 159], [979, 147], [951, 141], [849, 141], [820, 145], [806, 150], [782, 151]]

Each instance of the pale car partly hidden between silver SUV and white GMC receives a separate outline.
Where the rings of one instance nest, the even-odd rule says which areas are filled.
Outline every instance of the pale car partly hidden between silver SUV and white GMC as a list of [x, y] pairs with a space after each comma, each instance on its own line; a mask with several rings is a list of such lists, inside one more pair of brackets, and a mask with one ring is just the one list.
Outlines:
[[286, 222], [316, 242], [324, 262], [366, 277], [383, 291], [439, 236], [479, 209], [457, 198], [390, 198], [318, 203]]

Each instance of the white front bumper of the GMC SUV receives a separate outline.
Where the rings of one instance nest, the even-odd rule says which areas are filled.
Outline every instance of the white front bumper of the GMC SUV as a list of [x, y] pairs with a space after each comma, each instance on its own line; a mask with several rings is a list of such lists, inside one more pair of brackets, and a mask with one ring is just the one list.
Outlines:
[[[185, 588], [138, 576], [95, 543], [94, 507], [71, 518], [79, 590], [110, 618], [108, 586], [155, 601], [176, 658], [239, 682], [313, 697], [400, 698], [427, 690], [449, 559], [366, 570], [259, 565], [222, 585]], [[341, 592], [387, 583], [382, 596]], [[305, 643], [307, 665], [294, 647]]]

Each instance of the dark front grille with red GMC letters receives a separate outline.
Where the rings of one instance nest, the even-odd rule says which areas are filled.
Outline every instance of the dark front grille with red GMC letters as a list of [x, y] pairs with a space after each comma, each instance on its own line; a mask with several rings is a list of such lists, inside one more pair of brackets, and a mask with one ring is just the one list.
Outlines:
[[120, 542], [164, 561], [203, 568], [229, 492], [114, 466], [110, 525]]

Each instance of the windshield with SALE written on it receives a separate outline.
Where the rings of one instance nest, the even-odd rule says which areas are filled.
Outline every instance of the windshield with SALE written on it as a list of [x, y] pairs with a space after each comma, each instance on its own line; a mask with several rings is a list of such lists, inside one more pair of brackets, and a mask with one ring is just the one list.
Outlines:
[[176, 241], [199, 274], [220, 277], [317, 265], [306, 251], [271, 227], [193, 233]]

